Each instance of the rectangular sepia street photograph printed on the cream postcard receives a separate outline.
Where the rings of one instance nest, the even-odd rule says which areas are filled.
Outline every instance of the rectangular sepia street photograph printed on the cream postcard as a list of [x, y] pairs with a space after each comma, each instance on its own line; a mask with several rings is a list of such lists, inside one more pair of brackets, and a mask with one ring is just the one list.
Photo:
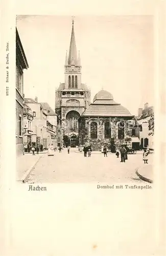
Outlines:
[[153, 183], [154, 17], [17, 15], [15, 136], [18, 182]]

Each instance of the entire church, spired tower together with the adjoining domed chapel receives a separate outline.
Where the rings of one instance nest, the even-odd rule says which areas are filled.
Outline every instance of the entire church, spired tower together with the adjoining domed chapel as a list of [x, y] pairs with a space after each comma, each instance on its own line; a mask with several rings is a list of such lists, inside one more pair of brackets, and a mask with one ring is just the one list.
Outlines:
[[101, 90], [90, 104], [90, 90], [81, 82], [80, 53], [77, 56], [74, 22], [69, 53], [64, 65], [65, 82], [55, 95], [58, 115], [58, 146], [91, 145], [101, 151], [106, 145], [112, 152], [122, 144], [139, 149], [139, 125], [134, 116], [111, 93]]

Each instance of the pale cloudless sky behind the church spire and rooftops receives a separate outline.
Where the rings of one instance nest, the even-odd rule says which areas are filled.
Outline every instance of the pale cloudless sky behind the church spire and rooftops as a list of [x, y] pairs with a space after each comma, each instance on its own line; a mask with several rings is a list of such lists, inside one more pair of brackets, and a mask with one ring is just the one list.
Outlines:
[[[18, 15], [16, 26], [29, 69], [26, 98], [38, 97], [55, 109], [55, 90], [64, 82], [71, 16]], [[154, 104], [154, 27], [150, 15], [75, 16], [82, 83], [96, 93], [109, 91], [132, 115]]]

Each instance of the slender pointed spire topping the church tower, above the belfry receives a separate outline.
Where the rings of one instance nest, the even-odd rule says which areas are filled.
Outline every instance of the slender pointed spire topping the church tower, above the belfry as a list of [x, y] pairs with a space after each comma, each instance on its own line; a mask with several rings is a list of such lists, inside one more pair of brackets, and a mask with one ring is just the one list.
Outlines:
[[75, 31], [74, 31], [74, 20], [72, 21], [72, 35], [70, 39], [70, 48], [68, 54], [68, 65], [77, 65], [77, 48], [76, 48], [76, 40], [75, 40]]

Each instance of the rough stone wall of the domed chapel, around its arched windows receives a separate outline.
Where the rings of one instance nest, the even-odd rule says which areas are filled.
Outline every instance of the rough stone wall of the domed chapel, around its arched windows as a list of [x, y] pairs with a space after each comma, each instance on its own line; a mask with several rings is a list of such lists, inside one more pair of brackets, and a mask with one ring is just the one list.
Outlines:
[[[135, 121], [135, 120], [134, 120]], [[90, 124], [91, 122], [97, 123], [97, 138], [91, 138], [90, 134]], [[109, 122], [111, 127], [110, 138], [105, 138], [105, 123]], [[118, 138], [118, 123], [123, 122], [125, 124], [124, 128], [124, 138]], [[139, 126], [137, 124], [130, 124], [131, 120], [120, 119], [114, 117], [81, 117], [79, 119], [79, 142], [82, 145], [88, 144], [92, 145], [93, 151], [101, 151], [103, 145], [108, 148], [111, 145], [115, 145], [116, 149], [120, 148], [122, 144], [127, 144], [129, 147], [132, 146], [132, 129], [136, 129], [137, 134], [139, 133]]]

